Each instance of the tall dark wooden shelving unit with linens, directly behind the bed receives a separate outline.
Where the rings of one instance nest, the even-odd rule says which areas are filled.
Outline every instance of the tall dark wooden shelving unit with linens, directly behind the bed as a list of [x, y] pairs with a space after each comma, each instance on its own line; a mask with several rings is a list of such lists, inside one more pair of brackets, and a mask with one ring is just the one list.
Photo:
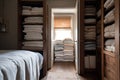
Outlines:
[[18, 49], [43, 55], [42, 77], [47, 73], [45, 5], [46, 0], [18, 0]]

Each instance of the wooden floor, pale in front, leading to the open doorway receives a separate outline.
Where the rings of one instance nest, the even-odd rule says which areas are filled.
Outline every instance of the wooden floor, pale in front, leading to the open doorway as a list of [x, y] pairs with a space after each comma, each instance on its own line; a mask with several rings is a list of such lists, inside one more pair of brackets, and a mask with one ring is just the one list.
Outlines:
[[79, 76], [73, 63], [55, 63], [47, 76], [42, 80], [97, 80], [95, 75]]

